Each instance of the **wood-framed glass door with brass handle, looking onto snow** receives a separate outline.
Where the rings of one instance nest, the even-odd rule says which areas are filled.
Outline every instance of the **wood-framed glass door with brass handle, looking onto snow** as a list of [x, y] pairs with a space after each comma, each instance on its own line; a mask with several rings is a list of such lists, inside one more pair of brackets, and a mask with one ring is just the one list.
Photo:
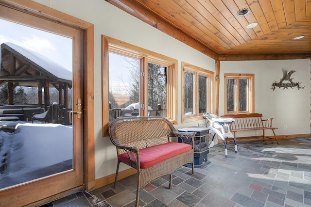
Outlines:
[[0, 25], [1, 205], [24, 206], [84, 183], [83, 32], [4, 6]]

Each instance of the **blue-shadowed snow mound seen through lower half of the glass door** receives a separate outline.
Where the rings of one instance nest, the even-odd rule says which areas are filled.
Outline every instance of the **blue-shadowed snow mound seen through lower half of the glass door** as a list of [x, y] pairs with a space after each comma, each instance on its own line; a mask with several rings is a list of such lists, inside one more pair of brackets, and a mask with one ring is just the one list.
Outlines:
[[72, 169], [72, 145], [72, 126], [19, 122], [14, 133], [1, 130], [0, 189]]

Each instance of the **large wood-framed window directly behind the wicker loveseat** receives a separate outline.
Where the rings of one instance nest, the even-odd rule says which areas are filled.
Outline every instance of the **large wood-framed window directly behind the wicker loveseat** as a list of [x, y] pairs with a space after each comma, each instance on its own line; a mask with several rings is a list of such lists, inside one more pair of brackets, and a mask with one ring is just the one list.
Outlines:
[[163, 116], [176, 124], [177, 60], [103, 36], [103, 136], [114, 119]]

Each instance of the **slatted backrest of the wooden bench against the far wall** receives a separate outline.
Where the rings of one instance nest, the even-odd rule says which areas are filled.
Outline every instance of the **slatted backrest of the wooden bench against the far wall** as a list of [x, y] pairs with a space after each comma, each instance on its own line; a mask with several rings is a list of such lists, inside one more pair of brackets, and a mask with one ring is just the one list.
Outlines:
[[247, 129], [247, 128], [262, 128], [261, 113], [243, 113], [243, 114], [227, 114], [221, 117], [234, 118], [230, 129]]

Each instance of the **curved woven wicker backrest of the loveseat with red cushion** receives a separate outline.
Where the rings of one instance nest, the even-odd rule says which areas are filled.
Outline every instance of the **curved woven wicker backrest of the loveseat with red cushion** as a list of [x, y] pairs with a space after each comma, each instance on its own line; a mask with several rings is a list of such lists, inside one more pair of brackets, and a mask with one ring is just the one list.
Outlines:
[[168, 143], [176, 130], [164, 117], [122, 117], [109, 124], [109, 137], [123, 144], [135, 145], [138, 149]]

